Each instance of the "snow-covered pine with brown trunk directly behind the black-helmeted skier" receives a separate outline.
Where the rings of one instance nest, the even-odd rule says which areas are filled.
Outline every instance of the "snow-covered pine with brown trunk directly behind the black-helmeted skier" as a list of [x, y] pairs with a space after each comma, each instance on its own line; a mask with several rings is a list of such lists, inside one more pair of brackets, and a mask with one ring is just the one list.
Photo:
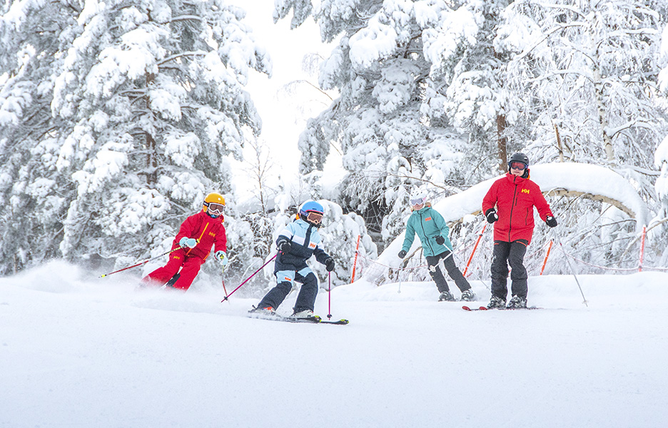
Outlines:
[[473, 0], [420, 6], [422, 19], [431, 23], [422, 33], [435, 83], [430, 116], [443, 116], [443, 123], [469, 136], [467, 150], [478, 158], [471, 165], [482, 164], [483, 172], [492, 174], [505, 173], [508, 151], [521, 147], [517, 102], [505, 87], [509, 58], [493, 44], [509, 3]]

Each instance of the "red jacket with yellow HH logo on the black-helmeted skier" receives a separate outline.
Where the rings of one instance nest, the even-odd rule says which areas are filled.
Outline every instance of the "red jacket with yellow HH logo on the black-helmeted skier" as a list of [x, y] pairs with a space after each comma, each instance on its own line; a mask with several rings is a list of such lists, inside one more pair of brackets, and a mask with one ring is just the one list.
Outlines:
[[518, 239], [531, 243], [533, 235], [533, 207], [545, 221], [553, 215], [540, 187], [529, 178], [507, 173], [496, 180], [482, 199], [482, 213], [496, 205], [499, 220], [494, 223], [494, 240], [512, 243]]

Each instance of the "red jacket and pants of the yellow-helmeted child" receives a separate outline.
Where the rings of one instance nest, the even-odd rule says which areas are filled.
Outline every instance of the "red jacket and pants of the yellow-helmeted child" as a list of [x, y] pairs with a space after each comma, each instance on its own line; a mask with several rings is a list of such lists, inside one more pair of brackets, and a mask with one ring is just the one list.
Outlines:
[[[178, 241], [183, 237], [195, 238], [199, 242], [195, 248], [180, 248]], [[223, 226], [223, 216], [212, 218], [203, 211], [191, 215], [181, 224], [181, 228], [178, 230], [176, 238], [174, 238], [172, 249], [179, 249], [170, 253], [167, 264], [146, 275], [143, 282], [156, 282], [163, 285], [171, 280], [171, 277], [176, 275], [181, 268], [181, 276], [173, 287], [180, 288], [183, 291], [188, 290], [201, 265], [211, 253], [212, 245], [216, 245], [216, 251], [227, 252], [227, 237]]]

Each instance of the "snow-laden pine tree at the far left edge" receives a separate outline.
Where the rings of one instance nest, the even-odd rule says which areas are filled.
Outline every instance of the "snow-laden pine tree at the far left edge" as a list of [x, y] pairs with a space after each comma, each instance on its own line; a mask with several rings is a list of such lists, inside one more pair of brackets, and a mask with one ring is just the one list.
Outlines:
[[51, 101], [82, 8], [40, 0], [0, 7], [0, 275], [60, 255], [74, 186], [56, 170], [63, 123]]

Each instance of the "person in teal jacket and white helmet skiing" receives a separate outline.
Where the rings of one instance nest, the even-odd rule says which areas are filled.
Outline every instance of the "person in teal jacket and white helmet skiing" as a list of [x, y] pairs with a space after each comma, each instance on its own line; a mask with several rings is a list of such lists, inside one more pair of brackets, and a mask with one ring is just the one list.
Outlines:
[[452, 243], [450, 243], [450, 238], [447, 237], [450, 233], [450, 228], [445, 224], [442, 215], [434, 208], [431, 208], [431, 204], [427, 202], [427, 193], [425, 191], [417, 190], [410, 195], [410, 209], [413, 213], [408, 218], [404, 243], [399, 252], [399, 258], [406, 257], [410, 246], [413, 245], [415, 233], [417, 233], [417, 237], [420, 238], [420, 243], [422, 243], [425, 258], [427, 259], [429, 275], [436, 282], [436, 287], [440, 292], [438, 301], [446, 300], [451, 302], [455, 300], [455, 297], [450, 292], [450, 287], [447, 286], [440, 267], [438, 267], [439, 260], [443, 260], [447, 275], [450, 275], [462, 292], [462, 300], [473, 300], [475, 294], [471, 290], [471, 285], [464, 275], [462, 275], [462, 272], [455, 265], [455, 260], [452, 258]]

